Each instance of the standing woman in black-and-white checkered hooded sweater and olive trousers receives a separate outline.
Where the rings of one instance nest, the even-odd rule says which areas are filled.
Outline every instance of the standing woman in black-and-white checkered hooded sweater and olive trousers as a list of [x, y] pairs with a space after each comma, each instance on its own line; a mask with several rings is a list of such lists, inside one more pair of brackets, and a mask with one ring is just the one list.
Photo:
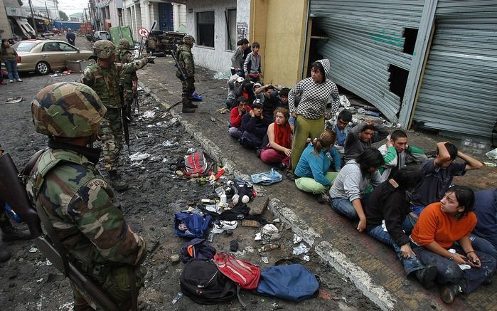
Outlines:
[[[297, 83], [288, 94], [288, 107], [292, 117], [296, 118], [294, 139], [292, 143], [292, 169], [296, 168], [300, 156], [306, 147], [307, 139], [318, 137], [324, 129], [326, 103], [333, 97], [331, 115], [335, 115], [340, 105], [338, 88], [326, 79], [330, 61], [317, 60], [311, 65], [311, 77]], [[301, 95], [299, 106], [295, 107], [296, 95]]]

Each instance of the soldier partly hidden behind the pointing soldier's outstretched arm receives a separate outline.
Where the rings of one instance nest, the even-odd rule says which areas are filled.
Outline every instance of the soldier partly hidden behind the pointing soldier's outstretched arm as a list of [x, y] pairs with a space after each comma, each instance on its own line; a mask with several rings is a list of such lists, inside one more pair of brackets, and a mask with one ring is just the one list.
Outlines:
[[[117, 63], [132, 63], [133, 54], [131, 53], [131, 45], [127, 39], [122, 38], [119, 40], [119, 53], [117, 54]], [[121, 85], [124, 89], [124, 107], [126, 107], [126, 119], [128, 122], [132, 122], [133, 116], [131, 113], [131, 108], [133, 104], [133, 95], [137, 92], [138, 87], [138, 75], [137, 70], [132, 73], [127, 73], [121, 78]]]

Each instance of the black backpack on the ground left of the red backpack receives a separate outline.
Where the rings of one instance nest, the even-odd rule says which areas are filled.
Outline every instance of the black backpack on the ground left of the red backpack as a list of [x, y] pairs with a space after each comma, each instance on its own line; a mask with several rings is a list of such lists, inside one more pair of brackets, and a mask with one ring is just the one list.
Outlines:
[[214, 263], [193, 258], [179, 278], [181, 292], [201, 305], [228, 302], [236, 295], [236, 285], [220, 273]]

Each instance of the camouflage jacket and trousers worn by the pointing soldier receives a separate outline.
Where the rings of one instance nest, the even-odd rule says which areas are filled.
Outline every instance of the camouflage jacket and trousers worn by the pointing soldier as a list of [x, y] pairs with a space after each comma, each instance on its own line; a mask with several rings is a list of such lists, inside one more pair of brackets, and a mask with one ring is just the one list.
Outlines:
[[[110, 41], [106, 43], [110, 43]], [[112, 44], [112, 46], [114, 45]], [[100, 123], [98, 139], [103, 144], [102, 154], [105, 160], [105, 170], [109, 174], [117, 172], [119, 152], [122, 148], [122, 103], [119, 95], [119, 80], [127, 73], [136, 73], [136, 70], [143, 68], [146, 63], [148, 63], [146, 58], [127, 64], [113, 63], [109, 68], [102, 68], [98, 63], [94, 63], [83, 71], [80, 78], [79, 82], [95, 90], [107, 107], [107, 114]]]

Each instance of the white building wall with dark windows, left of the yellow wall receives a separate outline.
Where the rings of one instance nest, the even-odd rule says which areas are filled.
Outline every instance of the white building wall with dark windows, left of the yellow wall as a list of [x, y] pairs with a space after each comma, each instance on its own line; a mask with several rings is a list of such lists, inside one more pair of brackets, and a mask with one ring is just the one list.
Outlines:
[[[242, 7], [242, 13], [239, 15], [237, 2]], [[248, 2], [248, 4], [246, 4]], [[242, 4], [243, 3], [243, 4]], [[209, 68], [215, 71], [227, 73], [231, 67], [231, 56], [233, 51], [226, 50], [226, 9], [237, 8], [237, 23], [249, 23], [250, 19], [250, 1], [242, 0], [204, 0], [204, 1], [186, 1], [186, 28], [188, 34], [197, 38], [196, 31], [196, 13], [203, 11], [214, 11], [214, 48], [204, 46], [193, 47], [193, 58], [196, 65]], [[192, 12], [189, 13], [189, 10]], [[248, 9], [248, 14], [247, 14]], [[240, 16], [240, 17], [239, 17]], [[239, 20], [240, 18], [240, 20]], [[245, 20], [244, 20], [245, 19]]]

